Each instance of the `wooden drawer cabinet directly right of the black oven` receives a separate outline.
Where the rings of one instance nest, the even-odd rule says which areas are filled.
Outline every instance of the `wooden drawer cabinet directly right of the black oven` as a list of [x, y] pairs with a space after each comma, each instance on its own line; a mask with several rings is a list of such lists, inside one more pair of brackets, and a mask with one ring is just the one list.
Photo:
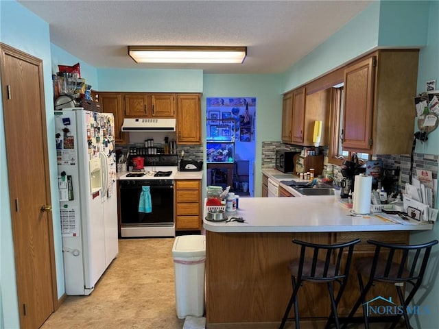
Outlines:
[[176, 230], [201, 230], [201, 180], [176, 180]]

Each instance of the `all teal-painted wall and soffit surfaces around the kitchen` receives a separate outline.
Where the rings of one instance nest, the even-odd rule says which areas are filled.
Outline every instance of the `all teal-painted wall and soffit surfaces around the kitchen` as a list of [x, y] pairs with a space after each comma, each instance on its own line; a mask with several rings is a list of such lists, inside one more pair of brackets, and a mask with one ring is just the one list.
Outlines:
[[[49, 25], [23, 8], [16, 1], [0, 1], [0, 41], [21, 49], [43, 60], [47, 107], [47, 134], [54, 136], [53, 95], [51, 74], [58, 71], [58, 64], [81, 64], [82, 77], [95, 90], [103, 91], [172, 91], [203, 93], [202, 119], [205, 123], [206, 97], [257, 97], [257, 143], [255, 159], [255, 196], [261, 195], [261, 143], [281, 139], [281, 94], [309, 80], [324, 75], [348, 60], [379, 47], [422, 47], [420, 51], [418, 92], [425, 90], [427, 80], [437, 80], [439, 75], [439, 4], [436, 1], [374, 1], [368, 8], [348, 22], [337, 33], [322, 42], [308, 56], [280, 75], [203, 75], [198, 70], [120, 70], [95, 68], [63, 49], [49, 43]], [[1, 92], [1, 91], [0, 91]], [[0, 104], [1, 108], [1, 104]], [[1, 108], [3, 112], [3, 108]], [[206, 136], [205, 125], [203, 138]], [[439, 154], [439, 130], [429, 135], [425, 145], [417, 151]], [[49, 149], [55, 149], [53, 138], [48, 138]], [[61, 236], [56, 178], [56, 154], [49, 154], [54, 206], [54, 236], [58, 296], [64, 293], [62, 276]], [[16, 283], [10, 208], [8, 199], [7, 168], [3, 117], [0, 117], [0, 328], [18, 328]], [[438, 228], [431, 232], [412, 234], [412, 242], [438, 239]], [[436, 252], [437, 254], [437, 252]], [[425, 295], [417, 297], [423, 304], [438, 308], [433, 297], [438, 295], [436, 269], [429, 268], [427, 277], [434, 282]], [[415, 300], [416, 302], [416, 300]], [[439, 313], [415, 319], [415, 328], [437, 328]]]

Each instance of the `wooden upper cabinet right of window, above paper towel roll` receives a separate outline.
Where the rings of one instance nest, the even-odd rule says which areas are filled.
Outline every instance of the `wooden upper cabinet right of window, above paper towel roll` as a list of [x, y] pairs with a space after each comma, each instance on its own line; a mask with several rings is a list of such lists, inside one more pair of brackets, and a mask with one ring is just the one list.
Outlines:
[[418, 53], [418, 49], [379, 50], [346, 66], [344, 150], [410, 154]]

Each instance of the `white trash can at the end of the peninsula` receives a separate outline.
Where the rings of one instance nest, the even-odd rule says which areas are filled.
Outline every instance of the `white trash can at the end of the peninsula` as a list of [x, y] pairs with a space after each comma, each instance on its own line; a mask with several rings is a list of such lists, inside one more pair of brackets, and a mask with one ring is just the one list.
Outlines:
[[204, 315], [206, 236], [177, 236], [172, 247], [178, 319]]

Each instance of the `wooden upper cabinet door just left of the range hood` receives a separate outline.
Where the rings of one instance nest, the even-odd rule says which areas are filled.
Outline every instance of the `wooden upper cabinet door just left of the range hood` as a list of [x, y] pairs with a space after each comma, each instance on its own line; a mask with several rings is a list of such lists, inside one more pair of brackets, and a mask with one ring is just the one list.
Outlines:
[[99, 101], [102, 103], [104, 113], [112, 113], [115, 116], [115, 142], [128, 143], [128, 134], [121, 132], [123, 123], [123, 107], [121, 93], [99, 93]]

